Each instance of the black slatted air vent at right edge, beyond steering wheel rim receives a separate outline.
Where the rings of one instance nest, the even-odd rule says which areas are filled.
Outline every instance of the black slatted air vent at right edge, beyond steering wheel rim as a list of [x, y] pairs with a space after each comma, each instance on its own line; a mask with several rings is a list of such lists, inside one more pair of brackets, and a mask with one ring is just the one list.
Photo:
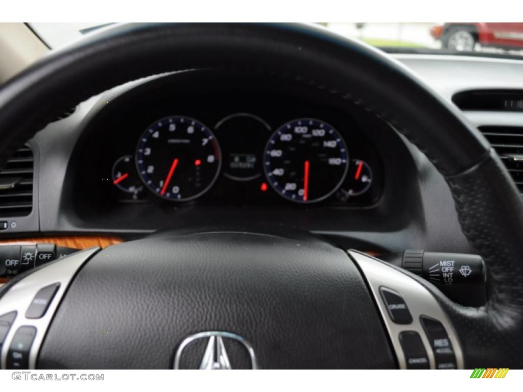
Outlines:
[[523, 193], [523, 126], [480, 126]]

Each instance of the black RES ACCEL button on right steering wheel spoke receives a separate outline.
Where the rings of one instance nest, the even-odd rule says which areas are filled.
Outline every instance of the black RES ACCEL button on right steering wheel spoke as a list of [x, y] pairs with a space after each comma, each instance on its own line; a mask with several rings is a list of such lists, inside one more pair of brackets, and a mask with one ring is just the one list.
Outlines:
[[430, 346], [434, 351], [434, 359], [436, 360], [437, 369], [455, 369], [456, 355], [450, 342], [449, 336], [445, 327], [434, 318], [428, 316], [420, 316], [419, 320], [423, 325], [423, 329], [430, 342]]

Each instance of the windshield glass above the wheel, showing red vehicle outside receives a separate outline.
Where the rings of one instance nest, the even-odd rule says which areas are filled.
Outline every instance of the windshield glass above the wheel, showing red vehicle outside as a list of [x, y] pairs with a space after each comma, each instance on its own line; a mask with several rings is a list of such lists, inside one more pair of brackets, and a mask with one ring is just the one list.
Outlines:
[[[52, 49], [111, 23], [30, 23]], [[389, 52], [523, 55], [523, 23], [320, 23]]]

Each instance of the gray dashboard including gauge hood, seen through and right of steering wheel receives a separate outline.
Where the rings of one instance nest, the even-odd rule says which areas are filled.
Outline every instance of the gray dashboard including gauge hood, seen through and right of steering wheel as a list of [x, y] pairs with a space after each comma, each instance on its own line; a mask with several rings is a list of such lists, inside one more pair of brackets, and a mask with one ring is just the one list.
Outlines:
[[[520, 61], [395, 57], [449, 101], [523, 89]], [[3, 235], [276, 225], [346, 248], [474, 253], [428, 159], [374, 113], [309, 82], [185, 71], [90, 98], [28, 141], [32, 210], [8, 218], [16, 227]], [[523, 123], [517, 112], [463, 110], [478, 126]]]

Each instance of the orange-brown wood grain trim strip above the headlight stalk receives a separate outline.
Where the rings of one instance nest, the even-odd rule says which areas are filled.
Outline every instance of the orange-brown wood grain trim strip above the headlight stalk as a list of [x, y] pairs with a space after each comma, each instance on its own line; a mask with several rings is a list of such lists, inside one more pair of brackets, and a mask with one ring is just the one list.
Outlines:
[[67, 248], [87, 249], [93, 246], [105, 248], [109, 245], [120, 244], [123, 239], [111, 236], [61, 236], [61, 237], [30, 237], [0, 239], [0, 245], [7, 244], [56, 244]]

